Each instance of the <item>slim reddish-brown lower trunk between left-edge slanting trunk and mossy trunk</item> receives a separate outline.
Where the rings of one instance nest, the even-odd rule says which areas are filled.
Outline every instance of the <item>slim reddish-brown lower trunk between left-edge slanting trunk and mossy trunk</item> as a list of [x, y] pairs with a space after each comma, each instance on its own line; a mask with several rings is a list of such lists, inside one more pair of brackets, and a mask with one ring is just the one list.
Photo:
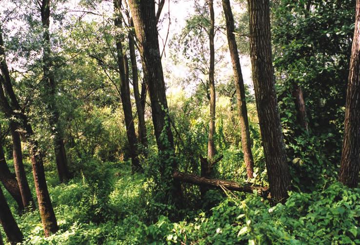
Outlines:
[[16, 178], [19, 184], [22, 204], [25, 208], [35, 210], [35, 203], [27, 182], [24, 164], [22, 162], [22, 150], [20, 134], [15, 122], [10, 122], [11, 138], [13, 140], [13, 159]]

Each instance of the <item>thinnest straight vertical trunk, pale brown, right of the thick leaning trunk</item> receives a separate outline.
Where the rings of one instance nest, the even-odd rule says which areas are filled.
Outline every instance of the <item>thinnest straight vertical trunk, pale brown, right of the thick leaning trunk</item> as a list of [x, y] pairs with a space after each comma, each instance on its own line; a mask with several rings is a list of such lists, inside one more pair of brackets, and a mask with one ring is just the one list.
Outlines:
[[209, 88], [210, 88], [210, 122], [209, 122], [209, 138], [207, 144], [207, 158], [209, 163], [213, 161], [216, 154], [214, 134], [215, 134], [215, 107], [216, 107], [216, 95], [215, 95], [215, 81], [214, 81], [214, 69], [215, 69], [215, 51], [214, 51], [214, 6], [213, 0], [208, 1], [210, 10], [210, 32], [209, 32], [209, 43], [210, 43], [210, 67], [209, 67]]

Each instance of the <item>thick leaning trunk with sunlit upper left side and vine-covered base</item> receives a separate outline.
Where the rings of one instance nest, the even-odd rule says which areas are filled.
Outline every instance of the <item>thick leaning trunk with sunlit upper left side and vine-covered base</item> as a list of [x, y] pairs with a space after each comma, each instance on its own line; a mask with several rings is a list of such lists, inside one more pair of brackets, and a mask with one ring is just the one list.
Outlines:
[[[169, 180], [173, 200], [180, 201], [181, 185], [173, 181], [171, 174], [177, 169], [176, 161], [168, 159], [174, 155], [174, 137], [171, 131], [168, 106], [166, 101], [165, 82], [162, 72], [155, 1], [129, 0], [134, 27], [138, 38], [144, 80], [149, 87], [152, 119], [158, 149], [164, 159], [160, 166], [163, 178]], [[165, 171], [166, 170], [166, 171]]]

